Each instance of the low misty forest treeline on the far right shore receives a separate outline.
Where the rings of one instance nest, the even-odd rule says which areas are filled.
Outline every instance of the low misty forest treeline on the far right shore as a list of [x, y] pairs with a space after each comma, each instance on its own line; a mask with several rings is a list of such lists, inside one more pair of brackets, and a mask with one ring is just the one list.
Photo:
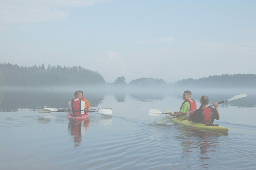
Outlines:
[[199, 88], [255, 88], [256, 74], [222, 74], [203, 77], [199, 79], [182, 79], [174, 83], [174, 87], [199, 87]]

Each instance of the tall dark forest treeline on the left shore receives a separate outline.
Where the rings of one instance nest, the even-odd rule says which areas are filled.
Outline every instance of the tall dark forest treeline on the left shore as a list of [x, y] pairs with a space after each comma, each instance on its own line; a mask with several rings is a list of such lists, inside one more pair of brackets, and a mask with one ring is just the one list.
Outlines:
[[104, 78], [96, 71], [81, 66], [41, 66], [23, 67], [17, 64], [0, 63], [0, 85], [41, 86], [104, 84]]

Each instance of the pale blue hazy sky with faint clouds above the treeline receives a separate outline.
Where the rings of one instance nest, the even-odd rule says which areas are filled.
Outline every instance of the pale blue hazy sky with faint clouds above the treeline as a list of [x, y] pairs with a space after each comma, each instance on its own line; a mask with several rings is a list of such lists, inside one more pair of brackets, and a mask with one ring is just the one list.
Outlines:
[[0, 0], [0, 62], [106, 82], [256, 74], [256, 1]]

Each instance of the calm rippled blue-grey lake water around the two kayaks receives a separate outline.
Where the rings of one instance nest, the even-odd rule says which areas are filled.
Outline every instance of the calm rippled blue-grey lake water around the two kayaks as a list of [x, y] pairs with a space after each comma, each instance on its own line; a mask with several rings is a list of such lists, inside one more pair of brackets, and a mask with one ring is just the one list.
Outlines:
[[[81, 89], [83, 90], [83, 89]], [[178, 111], [186, 89], [87, 90], [91, 108], [113, 108], [112, 116], [91, 113], [75, 123], [67, 112], [38, 114], [37, 109], [67, 108], [74, 89], [0, 90], [0, 169], [256, 169], [256, 90], [191, 90], [210, 103], [247, 93], [219, 105], [230, 130], [218, 133], [168, 123], [148, 116], [154, 108]]]

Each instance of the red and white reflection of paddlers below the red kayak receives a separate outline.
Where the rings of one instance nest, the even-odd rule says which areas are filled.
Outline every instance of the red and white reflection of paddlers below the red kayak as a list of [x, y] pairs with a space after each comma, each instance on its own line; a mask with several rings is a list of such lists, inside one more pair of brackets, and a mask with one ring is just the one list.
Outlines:
[[75, 146], [80, 146], [82, 142], [82, 135], [90, 126], [90, 119], [84, 121], [69, 121], [68, 130], [74, 136]]

